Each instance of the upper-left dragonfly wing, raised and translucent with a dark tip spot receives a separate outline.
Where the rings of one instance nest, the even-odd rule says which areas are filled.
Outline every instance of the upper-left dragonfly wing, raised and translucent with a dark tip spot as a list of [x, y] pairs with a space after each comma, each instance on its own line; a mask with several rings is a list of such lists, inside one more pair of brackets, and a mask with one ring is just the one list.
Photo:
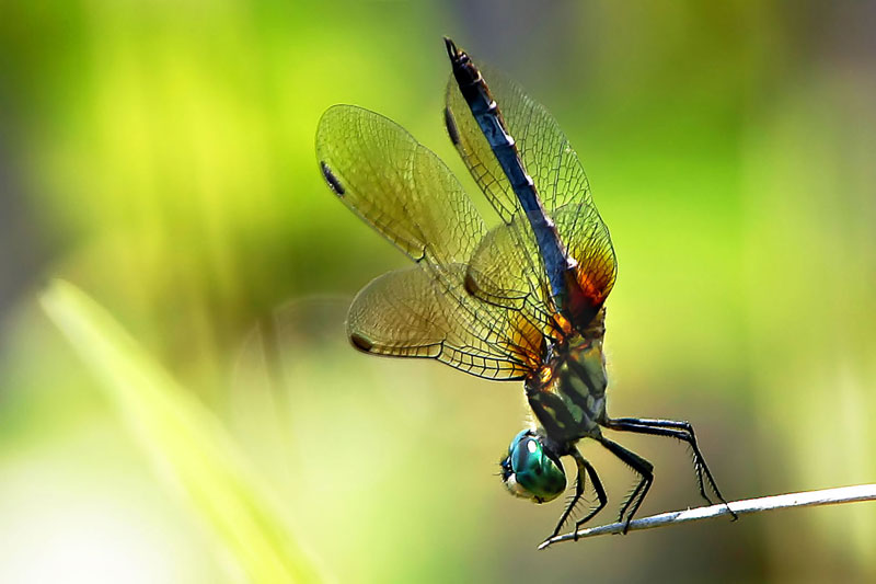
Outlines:
[[465, 262], [486, 232], [445, 163], [380, 114], [330, 107], [316, 129], [316, 156], [344, 205], [414, 261]]

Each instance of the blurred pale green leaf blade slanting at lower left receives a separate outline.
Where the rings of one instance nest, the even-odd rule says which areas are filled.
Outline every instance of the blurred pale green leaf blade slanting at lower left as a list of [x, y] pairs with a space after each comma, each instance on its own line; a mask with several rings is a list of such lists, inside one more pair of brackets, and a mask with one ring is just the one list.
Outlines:
[[56, 282], [43, 308], [65, 333], [171, 489], [229, 549], [250, 582], [316, 582], [283, 514], [217, 420], [142, 353], [101, 307]]

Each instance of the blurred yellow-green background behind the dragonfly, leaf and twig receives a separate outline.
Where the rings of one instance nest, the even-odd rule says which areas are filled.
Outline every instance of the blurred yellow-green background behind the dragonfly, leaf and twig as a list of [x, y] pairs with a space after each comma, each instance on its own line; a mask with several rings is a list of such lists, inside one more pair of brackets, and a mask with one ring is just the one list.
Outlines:
[[[873, 581], [872, 503], [537, 552], [562, 503], [495, 476], [520, 385], [346, 344], [348, 301], [403, 257], [333, 201], [313, 136], [334, 103], [376, 110], [476, 196], [441, 125], [452, 36], [587, 169], [620, 266], [610, 413], [692, 421], [728, 499], [873, 482], [874, 30], [852, 1], [3, 2], [0, 581], [253, 575], [223, 504], [162, 468], [185, 436], [145, 438], [41, 309], [54, 277], [211, 412], [328, 580]], [[656, 466], [643, 514], [700, 504], [682, 446], [619, 439]], [[584, 454], [613, 519], [633, 477]]]

